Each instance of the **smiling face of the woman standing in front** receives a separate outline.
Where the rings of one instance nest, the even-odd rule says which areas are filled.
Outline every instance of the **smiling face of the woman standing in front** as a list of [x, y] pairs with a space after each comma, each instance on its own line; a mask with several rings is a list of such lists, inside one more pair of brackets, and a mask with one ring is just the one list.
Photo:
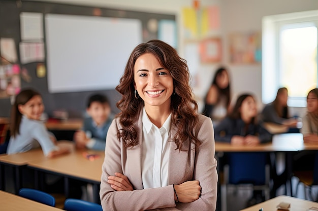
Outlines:
[[153, 54], [141, 55], [134, 66], [135, 90], [149, 106], [166, 106], [170, 109], [174, 91], [173, 78]]

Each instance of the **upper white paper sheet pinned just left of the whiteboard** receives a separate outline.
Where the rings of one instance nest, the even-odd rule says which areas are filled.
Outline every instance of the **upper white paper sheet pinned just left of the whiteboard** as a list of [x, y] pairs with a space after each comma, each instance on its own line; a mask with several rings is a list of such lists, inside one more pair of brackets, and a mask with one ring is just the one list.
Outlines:
[[43, 14], [26, 12], [21, 13], [20, 28], [22, 40], [43, 39]]

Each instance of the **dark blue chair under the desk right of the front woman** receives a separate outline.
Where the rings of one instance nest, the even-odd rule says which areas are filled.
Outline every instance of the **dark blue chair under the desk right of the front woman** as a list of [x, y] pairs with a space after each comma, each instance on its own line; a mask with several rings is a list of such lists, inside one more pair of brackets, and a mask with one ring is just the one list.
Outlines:
[[264, 152], [233, 152], [228, 154], [228, 164], [224, 168], [225, 201], [229, 188], [262, 190], [265, 199], [270, 198], [270, 167]]

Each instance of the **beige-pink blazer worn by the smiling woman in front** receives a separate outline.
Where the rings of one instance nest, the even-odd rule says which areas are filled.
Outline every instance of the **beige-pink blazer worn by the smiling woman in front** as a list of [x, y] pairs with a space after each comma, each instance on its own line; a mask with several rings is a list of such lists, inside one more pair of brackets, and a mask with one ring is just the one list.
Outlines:
[[[141, 142], [142, 142], [142, 112], [138, 125], [139, 145], [126, 148], [123, 140], [118, 140], [117, 131], [121, 128], [118, 118], [114, 119], [106, 138], [105, 160], [101, 177], [101, 204], [103, 210], [215, 210], [217, 194], [217, 162], [214, 158], [214, 133], [210, 118], [198, 114], [199, 122], [194, 128], [194, 134], [201, 141], [200, 147], [184, 145], [186, 151], [176, 149], [172, 141], [175, 128], [172, 126], [169, 139], [170, 157], [168, 167], [168, 186], [143, 189], [141, 174]], [[133, 191], [114, 191], [107, 183], [107, 178], [115, 172], [122, 173], [132, 183]], [[201, 196], [191, 203], [175, 203], [173, 184], [198, 180], [201, 186]]]

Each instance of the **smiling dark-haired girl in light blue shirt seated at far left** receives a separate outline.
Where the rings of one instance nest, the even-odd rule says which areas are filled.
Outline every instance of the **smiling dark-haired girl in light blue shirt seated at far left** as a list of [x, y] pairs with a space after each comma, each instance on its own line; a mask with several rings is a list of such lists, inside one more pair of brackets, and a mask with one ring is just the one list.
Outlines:
[[26, 152], [40, 146], [48, 157], [70, 152], [69, 148], [56, 146], [55, 137], [40, 121], [43, 111], [42, 97], [37, 91], [25, 89], [16, 96], [11, 109], [7, 154]]

